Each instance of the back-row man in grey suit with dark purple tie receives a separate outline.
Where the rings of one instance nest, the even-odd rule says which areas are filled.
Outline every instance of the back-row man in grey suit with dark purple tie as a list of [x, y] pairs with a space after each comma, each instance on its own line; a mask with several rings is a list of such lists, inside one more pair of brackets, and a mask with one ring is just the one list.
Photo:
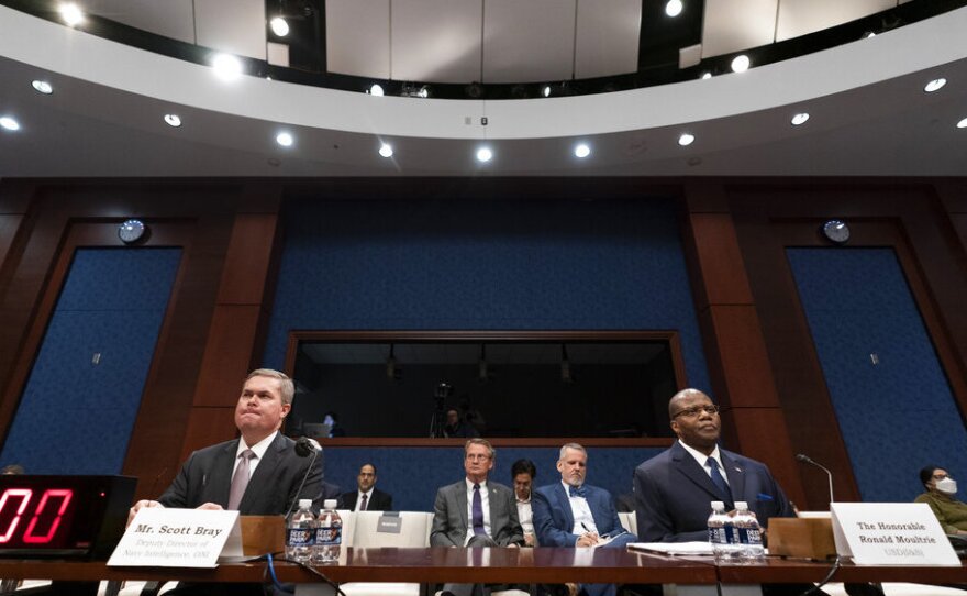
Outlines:
[[[464, 444], [466, 477], [441, 487], [433, 505], [431, 547], [520, 547], [524, 531], [510, 487], [489, 482], [494, 451], [485, 439]], [[446, 584], [444, 594], [469, 595], [482, 586]]]

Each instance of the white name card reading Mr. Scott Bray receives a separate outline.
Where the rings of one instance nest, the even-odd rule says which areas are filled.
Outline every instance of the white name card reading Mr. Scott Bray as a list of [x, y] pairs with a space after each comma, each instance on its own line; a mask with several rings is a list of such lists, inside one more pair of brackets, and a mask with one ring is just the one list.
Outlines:
[[108, 566], [214, 567], [220, 554], [242, 554], [238, 511], [153, 507], [137, 512]]

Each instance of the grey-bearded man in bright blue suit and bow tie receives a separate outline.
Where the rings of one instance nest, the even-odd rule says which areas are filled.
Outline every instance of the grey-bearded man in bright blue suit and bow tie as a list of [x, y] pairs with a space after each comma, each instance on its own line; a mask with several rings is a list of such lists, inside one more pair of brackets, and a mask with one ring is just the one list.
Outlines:
[[[611, 493], [585, 484], [588, 452], [577, 443], [560, 448], [560, 482], [534, 490], [534, 528], [543, 547], [604, 547], [623, 549], [637, 537], [625, 531]], [[609, 542], [610, 540], [610, 542]], [[568, 586], [570, 594], [613, 595], [614, 584]]]

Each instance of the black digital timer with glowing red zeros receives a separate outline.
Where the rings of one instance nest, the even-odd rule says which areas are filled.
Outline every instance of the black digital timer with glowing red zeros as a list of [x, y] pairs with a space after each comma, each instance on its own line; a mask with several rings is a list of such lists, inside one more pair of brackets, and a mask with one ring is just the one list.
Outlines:
[[0, 556], [107, 556], [136, 478], [0, 476]]

